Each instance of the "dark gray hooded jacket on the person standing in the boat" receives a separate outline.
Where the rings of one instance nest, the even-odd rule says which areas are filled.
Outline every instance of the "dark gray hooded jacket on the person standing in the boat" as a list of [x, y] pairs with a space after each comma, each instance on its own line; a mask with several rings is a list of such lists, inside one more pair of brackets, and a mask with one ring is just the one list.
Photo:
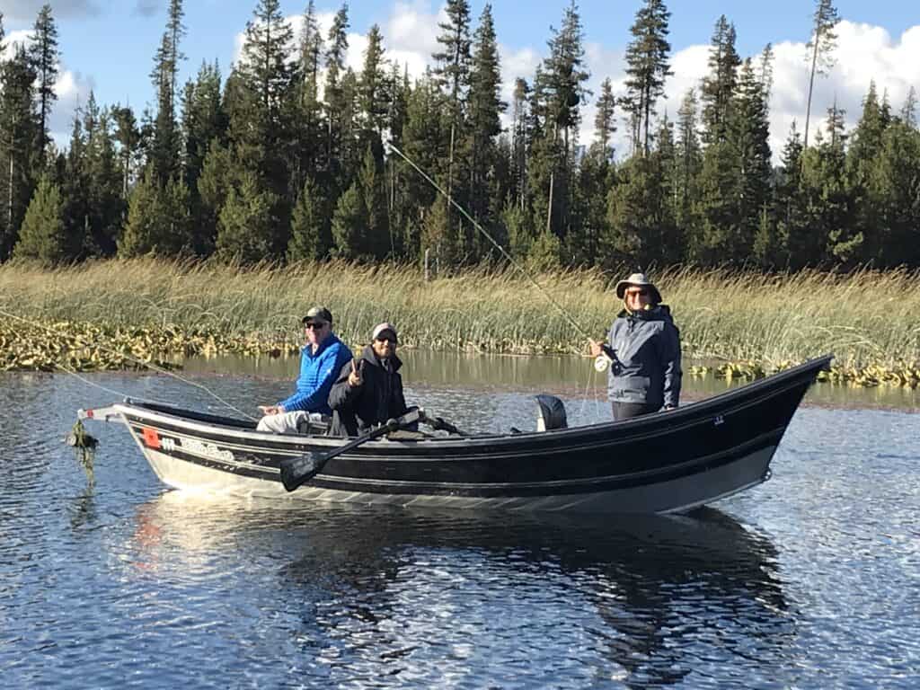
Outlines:
[[617, 360], [607, 374], [611, 401], [677, 407], [681, 340], [667, 305], [634, 313], [624, 309], [610, 327], [609, 344]]

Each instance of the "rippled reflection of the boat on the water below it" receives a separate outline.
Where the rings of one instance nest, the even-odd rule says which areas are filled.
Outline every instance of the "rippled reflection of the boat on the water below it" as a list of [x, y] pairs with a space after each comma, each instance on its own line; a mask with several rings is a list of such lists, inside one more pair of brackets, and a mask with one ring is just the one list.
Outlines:
[[794, 638], [776, 548], [713, 509], [602, 520], [178, 491], [137, 519], [138, 565], [221, 578], [228, 615], [256, 616], [248, 643], [307, 684], [752, 680]]

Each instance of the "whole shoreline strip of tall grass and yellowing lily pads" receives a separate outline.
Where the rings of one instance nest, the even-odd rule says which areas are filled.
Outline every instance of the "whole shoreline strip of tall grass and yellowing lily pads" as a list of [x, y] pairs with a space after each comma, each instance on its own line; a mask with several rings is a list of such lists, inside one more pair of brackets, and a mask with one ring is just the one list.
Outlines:
[[[920, 385], [920, 272], [652, 272], [681, 328], [685, 360], [713, 362], [685, 365], [685, 374], [758, 378], [833, 352], [822, 380]], [[596, 269], [535, 276], [597, 339], [620, 308], [612, 293], [618, 278]], [[584, 336], [512, 269], [426, 282], [422, 270], [392, 264], [110, 259], [47, 269], [11, 261], [0, 266], [0, 369], [87, 372], [169, 368], [178, 355], [293, 356], [300, 319], [314, 304], [328, 305], [352, 346], [390, 320], [411, 348], [586, 351]]]

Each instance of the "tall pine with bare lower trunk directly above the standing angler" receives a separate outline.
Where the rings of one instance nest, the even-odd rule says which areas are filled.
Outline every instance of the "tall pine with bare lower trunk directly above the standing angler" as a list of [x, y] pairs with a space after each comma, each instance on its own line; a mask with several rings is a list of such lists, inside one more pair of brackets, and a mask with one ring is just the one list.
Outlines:
[[633, 40], [627, 45], [627, 112], [632, 113], [636, 128], [633, 149], [638, 149], [641, 130], [642, 153], [649, 155], [649, 127], [655, 113], [655, 103], [664, 93], [664, 81], [672, 75], [668, 53], [668, 19], [671, 13], [661, 0], [645, 0], [636, 13], [630, 32]]

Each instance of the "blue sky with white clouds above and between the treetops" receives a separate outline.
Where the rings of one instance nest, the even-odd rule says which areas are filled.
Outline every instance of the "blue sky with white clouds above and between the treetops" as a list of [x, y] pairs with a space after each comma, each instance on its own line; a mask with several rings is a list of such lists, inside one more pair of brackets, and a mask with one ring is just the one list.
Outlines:
[[[44, 0], [0, 0], [6, 42], [28, 40]], [[57, 0], [50, 3], [60, 34], [61, 73], [56, 86], [58, 103], [52, 114], [52, 133], [66, 144], [75, 109], [92, 91], [100, 105], [131, 105], [139, 114], [153, 103], [150, 72], [166, 26], [167, 0]], [[485, 0], [470, 0], [474, 22]], [[719, 15], [735, 25], [737, 49], [742, 57], [757, 56], [766, 43], [776, 53], [775, 83], [770, 102], [771, 146], [777, 159], [789, 127], [805, 120], [809, 40], [814, 3], [803, 0], [731, 3], [727, 0], [671, 0], [673, 76], [665, 86], [659, 115], [676, 115], [686, 90], [698, 86], [706, 74], [708, 43]], [[185, 0], [184, 23], [188, 34], [181, 45], [186, 60], [180, 82], [195, 75], [202, 62], [220, 63], [224, 77], [239, 55], [243, 31], [257, 0]], [[299, 30], [306, 0], [282, 0], [282, 12]], [[315, 0], [324, 32], [340, 2]], [[535, 66], [546, 57], [546, 42], [558, 28], [569, 0], [523, 2], [493, 0], [492, 15], [500, 44], [504, 98], [510, 101], [514, 79], [533, 78]], [[587, 86], [593, 96], [582, 110], [581, 142], [592, 139], [593, 101], [599, 85], [610, 77], [615, 92], [622, 92], [623, 53], [629, 27], [641, 0], [581, 0], [577, 3], [584, 28], [586, 61], [591, 73]], [[846, 110], [847, 125], [859, 116], [862, 98], [874, 80], [887, 93], [893, 109], [902, 107], [910, 86], [920, 92], [920, 12], [904, 0], [837, 0], [843, 20], [837, 28], [836, 65], [815, 85], [811, 129], [820, 126], [826, 109], [834, 103]], [[914, 9], [911, 9], [914, 7]], [[349, 63], [360, 70], [367, 30], [377, 24], [384, 36], [386, 57], [408, 65], [420, 75], [437, 49], [438, 21], [443, 20], [438, 0], [351, 0]], [[627, 125], [621, 121], [615, 144], [626, 151]], [[812, 133], [813, 135], [813, 133]]]

